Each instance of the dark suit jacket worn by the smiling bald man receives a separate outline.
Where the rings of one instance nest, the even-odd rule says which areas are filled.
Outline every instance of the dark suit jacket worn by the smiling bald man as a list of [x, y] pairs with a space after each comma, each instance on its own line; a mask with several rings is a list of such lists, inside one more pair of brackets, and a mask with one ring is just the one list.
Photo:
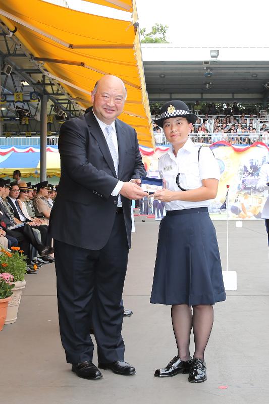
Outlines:
[[[119, 147], [118, 179], [146, 174], [136, 131], [116, 119]], [[66, 121], [60, 129], [61, 179], [50, 213], [49, 232], [56, 240], [98, 250], [109, 240], [118, 196], [118, 179], [103, 132], [92, 110]], [[122, 197], [128, 245], [131, 245], [131, 201]]]

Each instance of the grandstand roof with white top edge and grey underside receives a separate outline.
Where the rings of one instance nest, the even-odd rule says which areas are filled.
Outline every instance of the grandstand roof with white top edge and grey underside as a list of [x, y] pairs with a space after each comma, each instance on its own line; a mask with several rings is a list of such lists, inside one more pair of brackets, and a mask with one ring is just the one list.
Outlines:
[[[217, 59], [210, 57], [214, 49], [219, 51]], [[262, 102], [268, 96], [268, 51], [269, 47], [142, 44], [149, 99]]]

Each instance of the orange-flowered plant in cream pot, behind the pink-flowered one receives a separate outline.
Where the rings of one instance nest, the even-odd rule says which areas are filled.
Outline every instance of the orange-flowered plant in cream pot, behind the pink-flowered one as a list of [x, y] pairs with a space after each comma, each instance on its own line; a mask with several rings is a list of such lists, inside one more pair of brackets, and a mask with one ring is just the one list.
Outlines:
[[0, 273], [9, 272], [13, 275], [13, 295], [9, 301], [8, 313], [5, 324], [15, 323], [19, 304], [21, 301], [22, 290], [25, 288], [24, 275], [26, 274], [26, 257], [20, 247], [11, 247], [12, 252], [5, 248], [0, 250]]

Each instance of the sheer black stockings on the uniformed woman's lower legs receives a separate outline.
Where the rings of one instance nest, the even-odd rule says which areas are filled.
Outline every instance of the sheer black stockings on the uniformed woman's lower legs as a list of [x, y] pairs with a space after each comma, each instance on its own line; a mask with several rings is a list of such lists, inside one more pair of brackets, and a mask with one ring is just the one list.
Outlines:
[[193, 314], [188, 305], [172, 306], [171, 317], [180, 359], [187, 361], [190, 358], [190, 333], [193, 328], [193, 357], [203, 360], [213, 325], [213, 306], [193, 306]]

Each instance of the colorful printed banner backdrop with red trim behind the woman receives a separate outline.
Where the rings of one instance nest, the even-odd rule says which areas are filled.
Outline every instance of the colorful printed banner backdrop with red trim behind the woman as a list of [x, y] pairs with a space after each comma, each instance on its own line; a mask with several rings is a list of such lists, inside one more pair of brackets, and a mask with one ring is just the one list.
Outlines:
[[[228, 193], [228, 210], [230, 219], [259, 219], [268, 192], [260, 193], [256, 189], [259, 170], [262, 164], [269, 160], [269, 148], [262, 142], [253, 143], [250, 146], [231, 145], [226, 141], [216, 142], [210, 145], [214, 156], [217, 158], [221, 179], [217, 197], [212, 200], [209, 212], [212, 219], [227, 219], [227, 210], [221, 209]], [[158, 178], [158, 159], [167, 153], [169, 146], [157, 146], [152, 148], [140, 146], [143, 163], [147, 170], [147, 176]], [[153, 203], [153, 201], [151, 201]], [[144, 206], [142, 203], [142, 209]], [[152, 204], [153, 205], [153, 204]], [[156, 205], [156, 204], [155, 204]], [[164, 216], [163, 206], [155, 206], [153, 212], [156, 219]]]

